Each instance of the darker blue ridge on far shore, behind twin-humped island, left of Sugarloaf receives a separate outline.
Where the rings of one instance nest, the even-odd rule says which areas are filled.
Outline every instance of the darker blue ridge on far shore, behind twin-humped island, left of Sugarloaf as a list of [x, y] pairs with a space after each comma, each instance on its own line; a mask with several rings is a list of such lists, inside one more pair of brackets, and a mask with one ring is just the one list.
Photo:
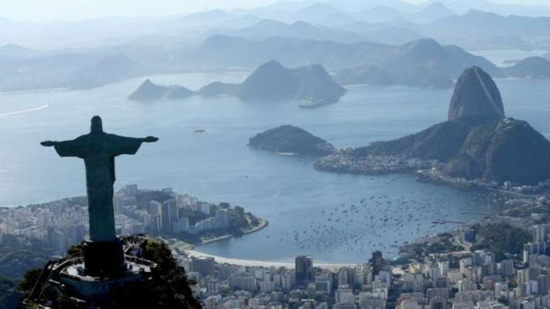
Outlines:
[[[220, 55], [217, 50], [225, 50], [225, 53]], [[200, 63], [213, 66], [249, 67], [266, 58], [290, 66], [320, 63], [329, 70], [340, 71], [337, 79], [345, 85], [452, 87], [452, 79], [472, 65], [500, 75], [500, 70], [485, 58], [431, 39], [394, 47], [374, 43], [343, 44], [291, 38], [258, 41], [215, 36], [205, 41], [199, 54]]]

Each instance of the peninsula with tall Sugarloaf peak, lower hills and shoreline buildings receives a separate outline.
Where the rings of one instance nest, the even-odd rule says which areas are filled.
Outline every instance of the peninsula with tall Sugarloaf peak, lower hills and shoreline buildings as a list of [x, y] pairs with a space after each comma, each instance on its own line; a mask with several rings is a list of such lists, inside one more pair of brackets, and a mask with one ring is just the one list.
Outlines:
[[338, 151], [314, 167], [363, 174], [424, 170], [423, 180], [439, 175], [451, 183], [537, 185], [550, 178], [549, 156], [550, 142], [526, 121], [506, 117], [495, 82], [471, 67], [456, 83], [448, 121], [394, 141]]

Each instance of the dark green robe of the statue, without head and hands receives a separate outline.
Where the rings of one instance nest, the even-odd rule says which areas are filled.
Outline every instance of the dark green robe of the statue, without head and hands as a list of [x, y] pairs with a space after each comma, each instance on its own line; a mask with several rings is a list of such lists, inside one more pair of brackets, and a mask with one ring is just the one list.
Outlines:
[[114, 157], [133, 155], [143, 139], [114, 134], [86, 134], [72, 141], [55, 143], [55, 151], [62, 157], [84, 159], [90, 213], [90, 240], [112, 242], [114, 229], [113, 185]]

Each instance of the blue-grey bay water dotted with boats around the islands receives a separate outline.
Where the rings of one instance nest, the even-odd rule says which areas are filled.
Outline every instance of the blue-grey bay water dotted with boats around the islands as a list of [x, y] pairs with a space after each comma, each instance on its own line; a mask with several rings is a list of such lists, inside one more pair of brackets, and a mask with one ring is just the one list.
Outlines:
[[[152, 76], [153, 82], [198, 89], [207, 82], [239, 82], [247, 72]], [[102, 116], [105, 131], [158, 136], [136, 156], [117, 158], [120, 188], [171, 187], [210, 202], [242, 205], [269, 227], [200, 251], [235, 259], [366, 261], [375, 249], [395, 256], [397, 244], [452, 229], [436, 219], [467, 222], [471, 212], [496, 211], [470, 193], [417, 183], [412, 175], [338, 175], [313, 170], [312, 160], [247, 147], [254, 134], [293, 124], [337, 147], [364, 146], [425, 129], [446, 119], [452, 90], [350, 87], [338, 103], [315, 110], [298, 102], [245, 103], [230, 97], [130, 102], [144, 78], [95, 90], [0, 94], [0, 205], [28, 205], [85, 194], [83, 163], [60, 158], [40, 141], [86, 134]], [[550, 136], [550, 82], [497, 80], [509, 116]], [[207, 134], [197, 134], [205, 129]], [[382, 244], [380, 244], [382, 243]], [[391, 245], [391, 246], [390, 246]]]

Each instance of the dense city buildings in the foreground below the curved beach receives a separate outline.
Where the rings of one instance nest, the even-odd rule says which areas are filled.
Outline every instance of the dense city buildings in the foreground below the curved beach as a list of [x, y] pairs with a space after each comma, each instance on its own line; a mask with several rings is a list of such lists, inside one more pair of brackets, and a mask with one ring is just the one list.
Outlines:
[[[409, 259], [389, 261], [365, 252], [357, 265], [317, 265], [297, 256], [294, 265], [178, 261], [195, 281], [205, 308], [546, 308], [550, 256], [546, 215], [495, 217], [433, 237]], [[451, 251], [452, 250], [452, 251]]]

